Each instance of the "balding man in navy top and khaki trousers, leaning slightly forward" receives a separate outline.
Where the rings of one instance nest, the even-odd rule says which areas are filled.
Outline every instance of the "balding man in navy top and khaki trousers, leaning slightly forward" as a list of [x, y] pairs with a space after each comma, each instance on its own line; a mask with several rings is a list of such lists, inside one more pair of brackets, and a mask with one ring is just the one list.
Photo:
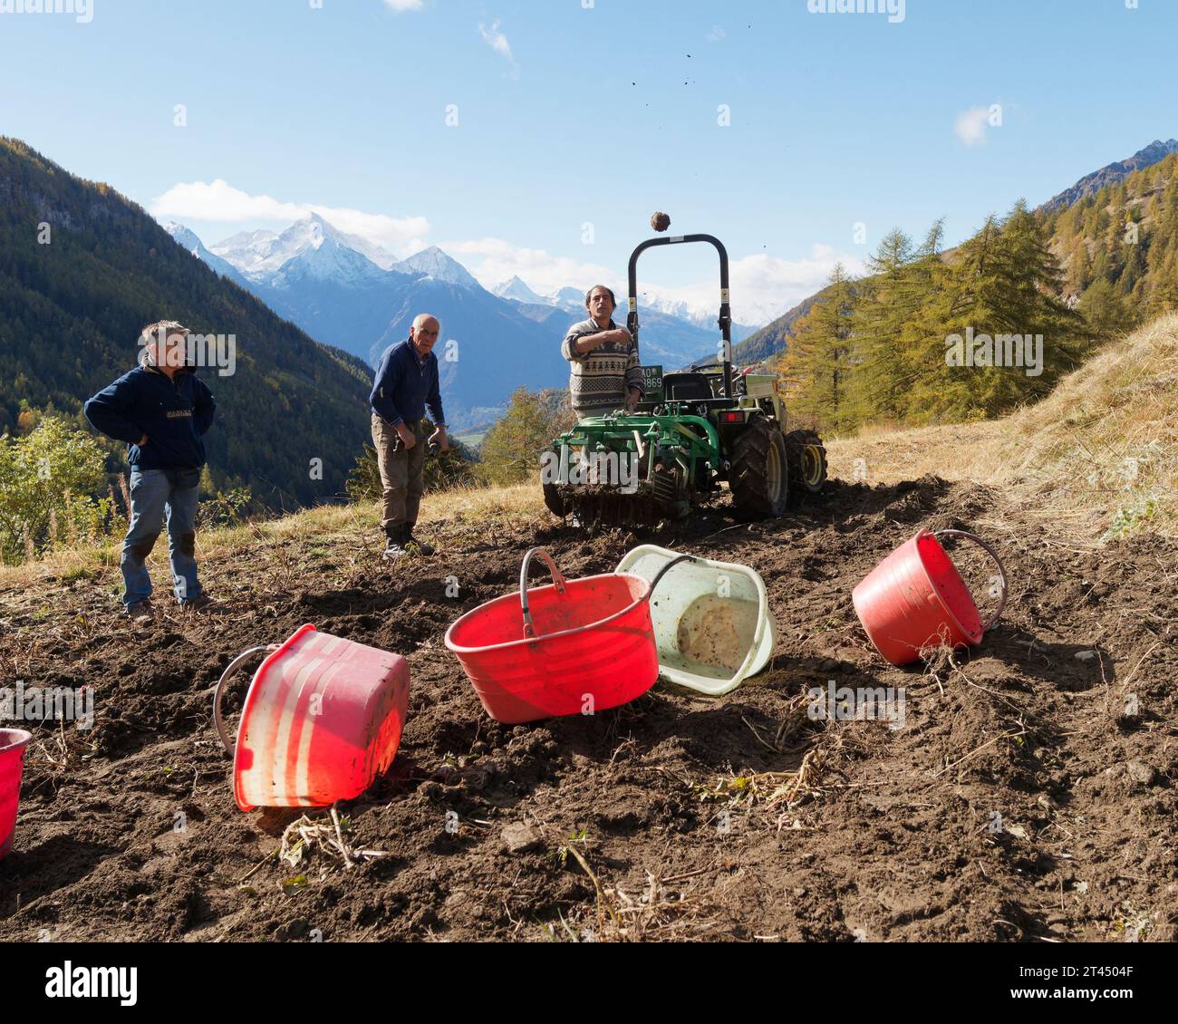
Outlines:
[[[441, 450], [450, 447], [438, 359], [431, 351], [441, 325], [436, 317], [421, 313], [413, 319], [409, 339], [385, 350], [372, 383], [372, 444], [380, 468], [380, 526], [388, 543], [384, 557], [399, 559], [411, 550], [432, 555], [430, 544], [413, 536], [424, 490], [425, 444]], [[437, 427], [429, 441], [422, 437], [425, 407]]]

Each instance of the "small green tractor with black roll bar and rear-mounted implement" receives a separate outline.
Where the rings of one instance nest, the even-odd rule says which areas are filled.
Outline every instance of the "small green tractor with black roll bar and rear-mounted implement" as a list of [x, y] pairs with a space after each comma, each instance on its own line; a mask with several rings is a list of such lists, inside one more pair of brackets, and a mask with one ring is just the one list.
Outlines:
[[728, 484], [737, 516], [775, 517], [826, 481], [822, 441], [812, 430], [787, 430], [777, 378], [733, 372], [728, 252], [720, 239], [651, 238], [634, 250], [630, 333], [638, 337], [638, 257], [656, 245], [694, 242], [720, 255], [720, 351], [681, 372], [644, 366], [636, 411], [583, 419], [552, 442], [541, 471], [544, 504], [581, 527], [682, 518], [721, 483]]

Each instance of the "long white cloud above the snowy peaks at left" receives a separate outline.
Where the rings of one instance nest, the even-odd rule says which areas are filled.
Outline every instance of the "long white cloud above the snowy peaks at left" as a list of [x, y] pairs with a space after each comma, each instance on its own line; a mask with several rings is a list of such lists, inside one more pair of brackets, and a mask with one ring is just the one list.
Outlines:
[[272, 196], [251, 196], [220, 178], [211, 184], [190, 181], [173, 185], [152, 200], [151, 212], [155, 217], [171, 217], [185, 223], [210, 220], [217, 224], [250, 220], [290, 224], [310, 213], [318, 213], [346, 234], [358, 234], [401, 258], [424, 249], [424, 238], [430, 230], [430, 223], [424, 217], [395, 218], [345, 206], [285, 203]]

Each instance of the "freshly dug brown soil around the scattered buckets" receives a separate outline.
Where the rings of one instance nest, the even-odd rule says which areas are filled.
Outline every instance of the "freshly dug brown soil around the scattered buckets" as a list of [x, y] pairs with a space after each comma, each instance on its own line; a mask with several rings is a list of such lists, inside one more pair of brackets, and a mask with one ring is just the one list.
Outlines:
[[[935, 670], [884, 662], [851, 605], [920, 526], [978, 528], [1013, 586], [985, 643]], [[0, 937], [1176, 938], [1174, 542], [1096, 548], [932, 477], [835, 482], [767, 523], [717, 508], [641, 537], [434, 539], [442, 554], [396, 569], [375, 537], [348, 557], [315, 537], [259, 543], [203, 567], [223, 612], [148, 633], [117, 620], [114, 570], [0, 590], [0, 685], [90, 686], [97, 712], [88, 732], [34, 728]], [[593, 716], [491, 721], [446, 626], [510, 592], [531, 544], [581, 576], [643, 541], [763, 575], [769, 669], [717, 700], [660, 683]], [[992, 607], [985, 559], [954, 556]], [[388, 855], [351, 868], [323, 850], [278, 861], [298, 813], [237, 810], [211, 724], [229, 661], [303, 622], [412, 672], [392, 769], [339, 808], [349, 845]], [[812, 720], [805, 692], [832, 680], [902, 687], [904, 727]]]

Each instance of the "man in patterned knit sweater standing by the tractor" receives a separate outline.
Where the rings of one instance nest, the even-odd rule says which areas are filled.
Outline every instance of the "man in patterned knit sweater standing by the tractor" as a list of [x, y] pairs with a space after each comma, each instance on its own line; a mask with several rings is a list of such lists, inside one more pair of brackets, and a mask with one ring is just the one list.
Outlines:
[[613, 321], [617, 300], [598, 284], [585, 296], [589, 319], [569, 328], [561, 355], [569, 361], [573, 411], [585, 419], [618, 409], [633, 412], [642, 398], [638, 343]]

